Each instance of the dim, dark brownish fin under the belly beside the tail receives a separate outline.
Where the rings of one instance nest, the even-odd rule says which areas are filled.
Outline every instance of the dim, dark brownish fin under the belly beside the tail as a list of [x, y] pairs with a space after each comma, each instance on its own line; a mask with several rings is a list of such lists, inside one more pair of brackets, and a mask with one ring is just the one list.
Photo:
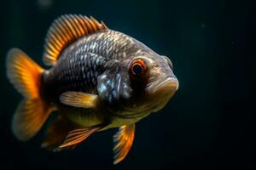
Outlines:
[[46, 130], [44, 142], [41, 146], [54, 151], [61, 150], [58, 146], [64, 142], [67, 133], [76, 128], [78, 127], [73, 125], [71, 122], [67, 122], [61, 116], [58, 116], [49, 124], [49, 127]]

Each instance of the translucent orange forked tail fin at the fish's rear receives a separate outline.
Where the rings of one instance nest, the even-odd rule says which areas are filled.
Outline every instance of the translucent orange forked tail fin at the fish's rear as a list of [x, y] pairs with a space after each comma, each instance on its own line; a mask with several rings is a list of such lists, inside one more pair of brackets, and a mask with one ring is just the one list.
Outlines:
[[39, 93], [44, 70], [18, 48], [9, 50], [6, 67], [9, 81], [24, 97], [15, 111], [12, 130], [17, 139], [26, 141], [38, 133], [52, 111]]

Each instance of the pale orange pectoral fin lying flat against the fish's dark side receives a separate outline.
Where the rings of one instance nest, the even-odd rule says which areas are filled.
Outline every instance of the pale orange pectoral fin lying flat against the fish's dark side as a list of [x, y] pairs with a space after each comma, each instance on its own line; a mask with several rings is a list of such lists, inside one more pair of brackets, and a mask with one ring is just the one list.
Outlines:
[[62, 104], [73, 107], [95, 108], [99, 102], [99, 97], [96, 94], [83, 92], [65, 92], [61, 94], [60, 101]]

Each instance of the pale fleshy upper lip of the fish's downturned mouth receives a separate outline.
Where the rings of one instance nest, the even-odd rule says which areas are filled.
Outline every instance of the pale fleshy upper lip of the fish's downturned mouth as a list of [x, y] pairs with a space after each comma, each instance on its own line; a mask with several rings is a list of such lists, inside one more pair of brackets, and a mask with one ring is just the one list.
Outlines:
[[179, 86], [179, 83], [177, 81], [177, 78], [176, 77], [167, 77], [166, 80], [158, 83], [152, 93], [155, 93], [156, 91], [158, 91], [160, 88], [163, 88], [163, 87], [169, 87], [169, 88], [172, 88], [172, 90], [174, 91], [177, 91], [178, 89], [178, 86]]

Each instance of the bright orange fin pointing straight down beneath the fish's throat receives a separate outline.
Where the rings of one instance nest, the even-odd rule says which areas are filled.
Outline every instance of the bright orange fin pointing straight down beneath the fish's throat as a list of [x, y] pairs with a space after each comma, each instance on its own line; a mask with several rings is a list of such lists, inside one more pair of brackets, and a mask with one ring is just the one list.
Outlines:
[[113, 164], [118, 164], [125, 159], [131, 150], [131, 145], [135, 134], [135, 124], [119, 127], [119, 132], [113, 136]]

